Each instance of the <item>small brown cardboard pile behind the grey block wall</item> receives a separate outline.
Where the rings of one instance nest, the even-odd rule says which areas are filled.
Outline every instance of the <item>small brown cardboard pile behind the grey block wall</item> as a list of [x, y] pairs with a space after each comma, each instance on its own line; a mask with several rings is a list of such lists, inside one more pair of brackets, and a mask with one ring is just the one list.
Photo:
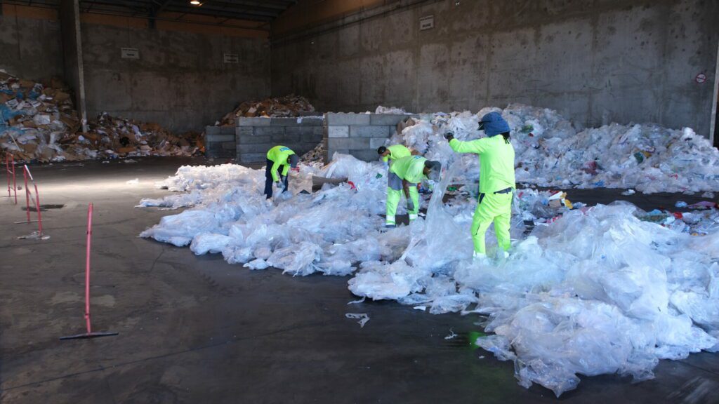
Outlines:
[[238, 116], [249, 118], [253, 116], [303, 116], [314, 110], [307, 98], [290, 94], [262, 101], [244, 101], [234, 111], [226, 114], [217, 124], [223, 127], [234, 126], [234, 121]]

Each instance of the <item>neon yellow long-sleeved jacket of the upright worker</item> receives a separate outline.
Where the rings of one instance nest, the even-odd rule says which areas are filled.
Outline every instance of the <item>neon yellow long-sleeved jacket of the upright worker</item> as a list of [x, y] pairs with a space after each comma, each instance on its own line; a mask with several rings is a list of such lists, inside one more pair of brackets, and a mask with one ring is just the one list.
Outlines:
[[[498, 134], [493, 137], [462, 142], [452, 139], [452, 150], [480, 155], [480, 193], [516, 188], [514, 183], [514, 147]], [[396, 164], [396, 163], [395, 163]]]

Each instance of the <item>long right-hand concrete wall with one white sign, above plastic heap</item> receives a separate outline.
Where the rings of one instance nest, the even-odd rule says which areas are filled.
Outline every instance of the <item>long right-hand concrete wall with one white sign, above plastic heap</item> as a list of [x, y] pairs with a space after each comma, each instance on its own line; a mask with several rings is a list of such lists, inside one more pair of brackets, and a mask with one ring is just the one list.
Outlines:
[[[434, 28], [421, 31], [426, 16]], [[525, 103], [579, 124], [655, 121], [708, 136], [717, 27], [713, 0], [385, 1], [273, 32], [273, 93], [325, 111]]]

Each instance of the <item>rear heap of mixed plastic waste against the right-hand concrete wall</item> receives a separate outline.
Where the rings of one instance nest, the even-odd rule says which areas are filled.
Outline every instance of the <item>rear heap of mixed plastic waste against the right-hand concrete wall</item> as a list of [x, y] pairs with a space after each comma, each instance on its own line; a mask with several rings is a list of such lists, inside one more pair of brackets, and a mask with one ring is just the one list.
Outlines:
[[[452, 161], [441, 137], [460, 140], [481, 136], [477, 122], [490, 111], [508, 121], [516, 150], [518, 182], [557, 188], [636, 188], [644, 193], [696, 193], [719, 189], [719, 151], [690, 128], [656, 124], [610, 124], [577, 131], [551, 109], [514, 104], [452, 114], [428, 114], [395, 134], [428, 158]], [[446, 144], [446, 143], [444, 143]]]

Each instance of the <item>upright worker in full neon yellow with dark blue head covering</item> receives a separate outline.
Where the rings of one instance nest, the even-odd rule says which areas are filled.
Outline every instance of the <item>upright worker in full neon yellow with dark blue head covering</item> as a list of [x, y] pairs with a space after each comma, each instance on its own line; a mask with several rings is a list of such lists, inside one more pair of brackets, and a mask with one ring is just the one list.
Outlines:
[[[472, 242], [475, 258], [487, 257], [485, 232], [495, 224], [497, 244], [506, 251], [510, 247], [510, 219], [514, 183], [514, 147], [509, 140], [509, 125], [498, 112], [482, 116], [482, 139], [460, 142], [452, 133], [445, 135], [452, 150], [459, 153], [476, 153], [480, 156], [480, 196], [472, 219]], [[499, 136], [498, 136], [499, 135]]]

